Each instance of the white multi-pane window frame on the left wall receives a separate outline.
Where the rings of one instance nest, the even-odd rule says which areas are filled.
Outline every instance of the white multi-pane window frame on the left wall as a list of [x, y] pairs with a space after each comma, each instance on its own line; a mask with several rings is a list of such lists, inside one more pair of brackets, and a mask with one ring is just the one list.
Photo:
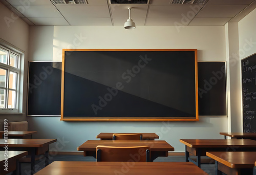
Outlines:
[[[0, 48], [3, 50], [7, 50], [7, 64], [0, 62], [0, 68], [4, 69], [7, 71], [6, 73], [6, 85], [5, 88], [0, 87], [0, 90], [5, 90], [5, 106], [4, 108], [0, 108], [0, 114], [1, 113], [18, 113], [20, 110], [19, 106], [19, 100], [20, 100], [20, 74], [22, 73], [20, 69], [20, 62], [22, 59], [22, 53], [19, 53], [15, 51], [14, 49], [11, 49], [11, 47], [4, 46], [2, 43], [0, 43]], [[11, 60], [11, 54], [17, 56], [16, 60], [16, 68], [10, 65], [10, 60]], [[16, 89], [13, 89], [14, 87], [10, 88], [9, 83], [10, 83], [10, 72], [16, 73]], [[9, 107], [9, 93], [10, 92], [15, 92], [15, 104], [14, 107]]]

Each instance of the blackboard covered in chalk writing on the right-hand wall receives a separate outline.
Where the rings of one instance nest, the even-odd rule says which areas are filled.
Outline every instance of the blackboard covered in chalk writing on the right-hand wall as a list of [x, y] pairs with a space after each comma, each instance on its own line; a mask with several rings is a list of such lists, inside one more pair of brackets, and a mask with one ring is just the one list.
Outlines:
[[241, 60], [243, 130], [256, 132], [256, 54]]

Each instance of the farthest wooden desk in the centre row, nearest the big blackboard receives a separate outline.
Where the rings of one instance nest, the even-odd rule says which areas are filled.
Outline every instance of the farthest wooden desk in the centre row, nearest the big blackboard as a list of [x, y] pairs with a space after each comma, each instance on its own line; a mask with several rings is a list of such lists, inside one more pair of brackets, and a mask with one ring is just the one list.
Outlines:
[[[113, 140], [114, 133], [100, 133], [96, 136], [97, 139], [100, 140]], [[134, 133], [120, 133], [120, 134], [134, 134]], [[159, 136], [155, 133], [139, 133], [142, 134], [142, 140], [155, 140], [159, 139]]]

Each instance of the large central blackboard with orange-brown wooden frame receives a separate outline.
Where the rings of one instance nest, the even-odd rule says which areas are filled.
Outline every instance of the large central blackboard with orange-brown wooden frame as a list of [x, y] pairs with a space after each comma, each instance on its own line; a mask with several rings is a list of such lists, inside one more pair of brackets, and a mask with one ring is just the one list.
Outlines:
[[61, 120], [198, 120], [197, 50], [64, 50]]

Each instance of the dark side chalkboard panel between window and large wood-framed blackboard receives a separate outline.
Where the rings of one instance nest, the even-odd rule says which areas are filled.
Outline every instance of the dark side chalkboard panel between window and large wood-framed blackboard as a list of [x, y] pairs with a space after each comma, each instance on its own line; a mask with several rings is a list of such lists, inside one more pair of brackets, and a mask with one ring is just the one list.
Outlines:
[[60, 116], [61, 62], [29, 62], [28, 116]]

